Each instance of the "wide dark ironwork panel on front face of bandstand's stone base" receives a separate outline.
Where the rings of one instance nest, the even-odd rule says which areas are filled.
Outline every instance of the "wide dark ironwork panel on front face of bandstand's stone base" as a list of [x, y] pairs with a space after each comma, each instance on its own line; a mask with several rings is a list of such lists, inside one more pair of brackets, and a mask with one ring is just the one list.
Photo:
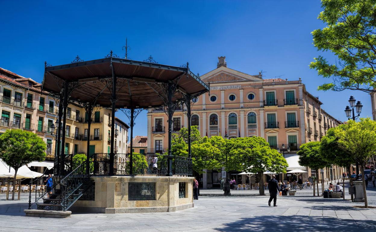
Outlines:
[[155, 200], [155, 182], [128, 183], [128, 200]]

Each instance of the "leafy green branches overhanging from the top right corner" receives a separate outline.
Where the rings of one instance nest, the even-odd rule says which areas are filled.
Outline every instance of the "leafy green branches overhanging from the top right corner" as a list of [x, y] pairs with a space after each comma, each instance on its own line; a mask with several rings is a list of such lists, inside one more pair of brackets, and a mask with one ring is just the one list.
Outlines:
[[333, 82], [318, 87], [320, 90], [344, 89], [373, 92], [376, 89], [376, 1], [375, 0], [321, 0], [324, 11], [318, 19], [326, 24], [312, 32], [313, 44], [318, 50], [331, 51], [337, 56], [331, 64], [323, 56], [309, 65]]

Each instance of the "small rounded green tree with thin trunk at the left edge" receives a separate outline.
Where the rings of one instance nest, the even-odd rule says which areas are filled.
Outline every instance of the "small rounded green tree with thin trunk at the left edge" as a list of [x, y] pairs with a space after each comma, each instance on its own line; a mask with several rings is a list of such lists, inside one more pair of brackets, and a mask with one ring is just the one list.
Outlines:
[[0, 156], [3, 161], [14, 168], [13, 193], [14, 200], [17, 171], [32, 161], [44, 161], [47, 149], [44, 141], [35, 133], [24, 130], [7, 130], [0, 135]]

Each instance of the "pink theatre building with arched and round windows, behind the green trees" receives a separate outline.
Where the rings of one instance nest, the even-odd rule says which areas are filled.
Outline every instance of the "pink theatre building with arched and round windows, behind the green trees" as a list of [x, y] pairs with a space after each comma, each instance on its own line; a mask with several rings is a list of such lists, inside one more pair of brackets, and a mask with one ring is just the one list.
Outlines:
[[[319, 141], [327, 129], [341, 122], [321, 109], [323, 103], [306, 91], [300, 78], [263, 79], [261, 73], [249, 75], [228, 68], [223, 56], [218, 57], [216, 69], [200, 78], [210, 83], [210, 93], [193, 99], [191, 125], [199, 128], [201, 136], [220, 135], [229, 139], [261, 136], [272, 148], [284, 153], [288, 170], [307, 170], [304, 179], [316, 174], [308, 167], [300, 167], [296, 152], [301, 144]], [[183, 107], [174, 112], [173, 131], [188, 124], [185, 110]], [[162, 108], [149, 109], [147, 119], [148, 152], [167, 150], [167, 115]], [[340, 169], [332, 166], [332, 174], [326, 170], [324, 178], [334, 179], [342, 173]], [[237, 176], [238, 172], [231, 174], [240, 182], [247, 181], [246, 177]], [[220, 177], [220, 172], [206, 170], [200, 185], [218, 187]], [[285, 180], [293, 176], [280, 174], [278, 178]]]

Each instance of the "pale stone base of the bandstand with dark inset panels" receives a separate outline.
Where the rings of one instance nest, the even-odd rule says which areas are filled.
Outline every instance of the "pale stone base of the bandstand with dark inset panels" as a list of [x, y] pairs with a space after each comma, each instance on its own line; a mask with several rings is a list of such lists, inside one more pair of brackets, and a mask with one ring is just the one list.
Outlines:
[[[193, 207], [193, 177], [94, 176], [91, 179], [95, 182], [95, 200], [78, 200], [70, 208], [71, 211], [114, 214], [173, 212]], [[185, 183], [185, 186], [180, 184], [180, 197], [179, 182]], [[141, 196], [132, 187], [137, 183], [151, 183], [153, 187], [147, 191], [155, 190], [155, 198], [133, 200], [135, 196]], [[185, 191], [182, 191], [182, 186]]]

